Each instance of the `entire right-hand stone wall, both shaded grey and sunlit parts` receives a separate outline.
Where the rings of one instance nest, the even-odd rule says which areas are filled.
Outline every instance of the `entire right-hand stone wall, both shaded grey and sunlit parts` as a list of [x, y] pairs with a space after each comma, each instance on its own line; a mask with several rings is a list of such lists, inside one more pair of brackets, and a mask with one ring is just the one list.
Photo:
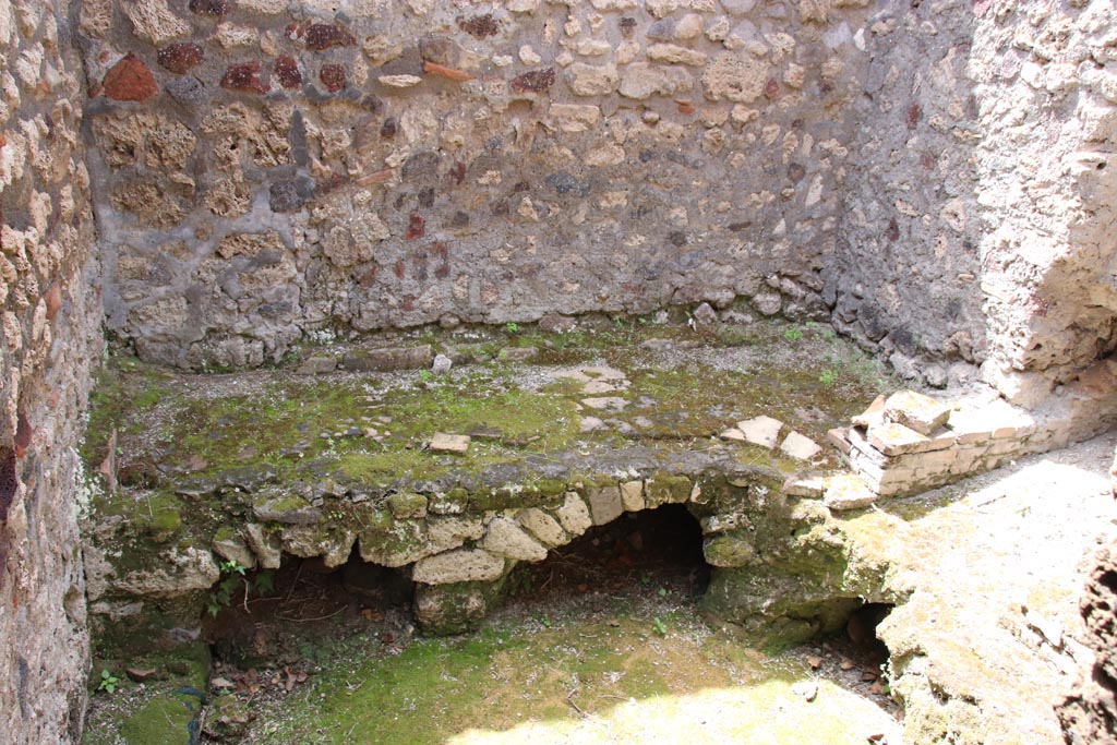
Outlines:
[[870, 30], [836, 326], [1035, 407], [1115, 343], [1113, 4], [897, 3]]

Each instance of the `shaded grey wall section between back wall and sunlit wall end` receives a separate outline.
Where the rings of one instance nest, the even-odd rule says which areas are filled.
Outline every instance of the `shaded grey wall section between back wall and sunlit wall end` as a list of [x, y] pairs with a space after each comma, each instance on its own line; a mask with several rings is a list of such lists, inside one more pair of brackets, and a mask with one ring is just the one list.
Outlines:
[[849, 145], [857, 155], [827, 300], [840, 332], [942, 385], [972, 374], [956, 363], [981, 363], [987, 346], [971, 154], [981, 139], [968, 77], [973, 3], [880, 6], [865, 36]]

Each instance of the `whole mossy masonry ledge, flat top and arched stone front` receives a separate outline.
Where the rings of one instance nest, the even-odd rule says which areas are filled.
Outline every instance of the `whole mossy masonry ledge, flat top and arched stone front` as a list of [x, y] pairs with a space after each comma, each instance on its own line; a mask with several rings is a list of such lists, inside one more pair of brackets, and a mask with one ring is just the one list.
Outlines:
[[[411, 572], [424, 628], [460, 630], [517, 563], [665, 504], [704, 522], [722, 571], [790, 556], [794, 525], [815, 517], [795, 512], [783, 483], [833, 469], [837, 453], [818, 443], [871, 395], [855, 380], [834, 395], [804, 378], [819, 344], [841, 343], [789, 347], [781, 328], [770, 333], [779, 355], [633, 326], [576, 343], [466, 332], [340, 344], [236, 374], [116, 360], [84, 447], [99, 481], [93, 612], [160, 627], [145, 629], [155, 640], [197, 625], [229, 571], [284, 555], [338, 566], [355, 551]], [[136, 603], [162, 617], [124, 613]]]

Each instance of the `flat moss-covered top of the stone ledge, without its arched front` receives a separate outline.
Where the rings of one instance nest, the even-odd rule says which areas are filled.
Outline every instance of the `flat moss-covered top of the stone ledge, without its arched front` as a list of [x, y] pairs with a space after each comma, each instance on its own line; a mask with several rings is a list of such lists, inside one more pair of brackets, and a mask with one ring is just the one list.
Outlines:
[[[225, 474], [251, 478], [254, 470], [257, 478], [266, 472], [288, 481], [333, 472], [372, 483], [429, 480], [586, 445], [686, 447], [761, 413], [821, 440], [830, 426], [891, 385], [822, 327], [748, 328], [746, 343], [733, 346], [686, 326], [634, 321], [566, 335], [447, 334], [436, 346], [464, 362], [437, 375], [297, 375], [293, 366], [181, 375], [120, 357], [102, 373], [83, 453], [95, 470], [115, 430], [125, 486], [181, 486], [184, 477], [204, 485]], [[789, 328], [802, 335], [791, 341]], [[475, 336], [484, 341], [470, 341]], [[649, 342], [661, 346], [649, 348]], [[521, 345], [538, 354], [523, 363], [494, 359], [494, 351]], [[313, 352], [340, 357], [344, 348]], [[590, 394], [553, 373], [591, 362], [624, 373], [626, 390], [607, 395], [628, 405], [599, 414], [619, 423], [586, 434], [579, 431], [580, 414], [596, 412], [579, 409]], [[437, 431], [475, 434], [468, 456], [422, 452]]]

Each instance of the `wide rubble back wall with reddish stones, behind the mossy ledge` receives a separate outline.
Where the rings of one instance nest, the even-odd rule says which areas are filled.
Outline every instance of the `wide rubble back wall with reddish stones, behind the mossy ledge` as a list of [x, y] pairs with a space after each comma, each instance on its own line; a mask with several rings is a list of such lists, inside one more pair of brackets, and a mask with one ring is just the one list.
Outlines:
[[109, 328], [828, 317], [867, 0], [80, 3]]

